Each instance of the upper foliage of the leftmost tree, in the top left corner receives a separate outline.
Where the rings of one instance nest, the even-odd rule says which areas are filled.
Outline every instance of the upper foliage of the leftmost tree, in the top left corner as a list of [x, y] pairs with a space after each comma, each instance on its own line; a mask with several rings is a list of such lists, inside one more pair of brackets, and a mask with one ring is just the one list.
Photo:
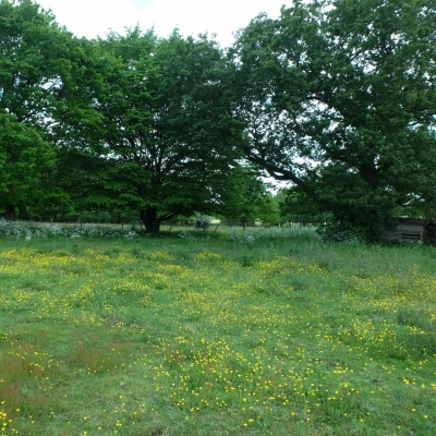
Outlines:
[[0, 43], [0, 111], [47, 128], [71, 68], [71, 35], [31, 0], [1, 0]]

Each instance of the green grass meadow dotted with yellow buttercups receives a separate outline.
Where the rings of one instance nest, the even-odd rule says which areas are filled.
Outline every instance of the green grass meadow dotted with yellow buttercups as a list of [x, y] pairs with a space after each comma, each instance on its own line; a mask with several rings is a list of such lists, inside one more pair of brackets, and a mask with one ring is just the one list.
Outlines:
[[436, 251], [0, 240], [0, 434], [436, 434]]

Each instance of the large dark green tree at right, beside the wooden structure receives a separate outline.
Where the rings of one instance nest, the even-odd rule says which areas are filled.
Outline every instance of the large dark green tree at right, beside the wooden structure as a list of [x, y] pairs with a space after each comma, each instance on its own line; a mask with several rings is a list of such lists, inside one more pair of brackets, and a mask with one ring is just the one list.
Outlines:
[[[233, 51], [249, 160], [378, 238], [435, 202], [434, 0], [295, 1]], [[237, 95], [237, 93], [235, 93]]]

